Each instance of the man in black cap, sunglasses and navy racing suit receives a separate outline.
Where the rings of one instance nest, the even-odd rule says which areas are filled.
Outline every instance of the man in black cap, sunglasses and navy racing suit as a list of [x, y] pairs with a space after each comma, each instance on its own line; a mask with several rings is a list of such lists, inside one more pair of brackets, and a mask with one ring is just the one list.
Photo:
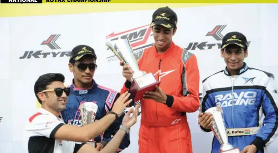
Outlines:
[[[62, 119], [65, 123], [82, 126], [80, 117], [80, 104], [82, 102], [94, 102], [98, 105], [95, 121], [108, 114], [114, 102], [119, 97], [119, 92], [102, 87], [93, 80], [94, 72], [97, 68], [96, 55], [90, 46], [79, 45], [73, 48], [68, 67], [73, 73], [72, 85], [70, 86], [70, 95], [66, 104], [66, 110], [62, 111]], [[112, 139], [121, 126], [124, 113], [118, 114], [119, 118], [100, 136], [96, 137], [96, 149], [101, 150]], [[118, 153], [128, 147], [130, 144], [129, 133], [126, 133], [118, 149]]]

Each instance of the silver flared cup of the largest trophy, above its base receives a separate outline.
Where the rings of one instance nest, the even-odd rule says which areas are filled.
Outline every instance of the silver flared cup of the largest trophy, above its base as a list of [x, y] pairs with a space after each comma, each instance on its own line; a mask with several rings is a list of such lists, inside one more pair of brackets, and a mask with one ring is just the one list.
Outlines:
[[130, 66], [130, 69], [133, 71], [133, 78], [138, 78], [146, 74], [146, 72], [139, 70], [139, 66], [128, 38], [107, 41], [105, 45], [118, 57], [119, 60], [124, 61], [124, 64]]

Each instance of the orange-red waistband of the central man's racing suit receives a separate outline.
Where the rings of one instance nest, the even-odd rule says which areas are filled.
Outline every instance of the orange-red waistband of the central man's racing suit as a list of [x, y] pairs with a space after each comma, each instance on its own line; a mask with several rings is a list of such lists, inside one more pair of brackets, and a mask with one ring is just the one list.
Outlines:
[[187, 122], [186, 117], [178, 117], [177, 119], [167, 119], [161, 121], [149, 121], [149, 120], [142, 120], [141, 125], [144, 126], [153, 126], [153, 127], [163, 127], [163, 126], [171, 126], [176, 124], [181, 124]]

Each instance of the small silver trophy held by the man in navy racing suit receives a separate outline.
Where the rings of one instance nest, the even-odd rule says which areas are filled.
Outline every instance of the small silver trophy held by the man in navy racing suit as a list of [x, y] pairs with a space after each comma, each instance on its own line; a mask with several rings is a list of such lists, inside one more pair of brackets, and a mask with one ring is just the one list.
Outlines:
[[[94, 122], [97, 108], [98, 106], [93, 102], [84, 102], [81, 104], [79, 109], [83, 125]], [[96, 147], [96, 142], [93, 141], [93, 139], [87, 143], [93, 146], [94, 148]]]

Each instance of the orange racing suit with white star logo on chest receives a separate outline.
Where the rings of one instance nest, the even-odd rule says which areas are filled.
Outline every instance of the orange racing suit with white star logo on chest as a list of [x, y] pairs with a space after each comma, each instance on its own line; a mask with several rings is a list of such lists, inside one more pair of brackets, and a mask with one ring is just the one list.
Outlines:
[[[152, 72], [167, 95], [166, 104], [141, 100], [139, 153], [192, 153], [186, 112], [195, 112], [199, 102], [199, 69], [196, 56], [171, 42], [163, 54], [154, 46], [145, 49], [139, 69]], [[130, 87], [126, 81], [121, 93]]]

